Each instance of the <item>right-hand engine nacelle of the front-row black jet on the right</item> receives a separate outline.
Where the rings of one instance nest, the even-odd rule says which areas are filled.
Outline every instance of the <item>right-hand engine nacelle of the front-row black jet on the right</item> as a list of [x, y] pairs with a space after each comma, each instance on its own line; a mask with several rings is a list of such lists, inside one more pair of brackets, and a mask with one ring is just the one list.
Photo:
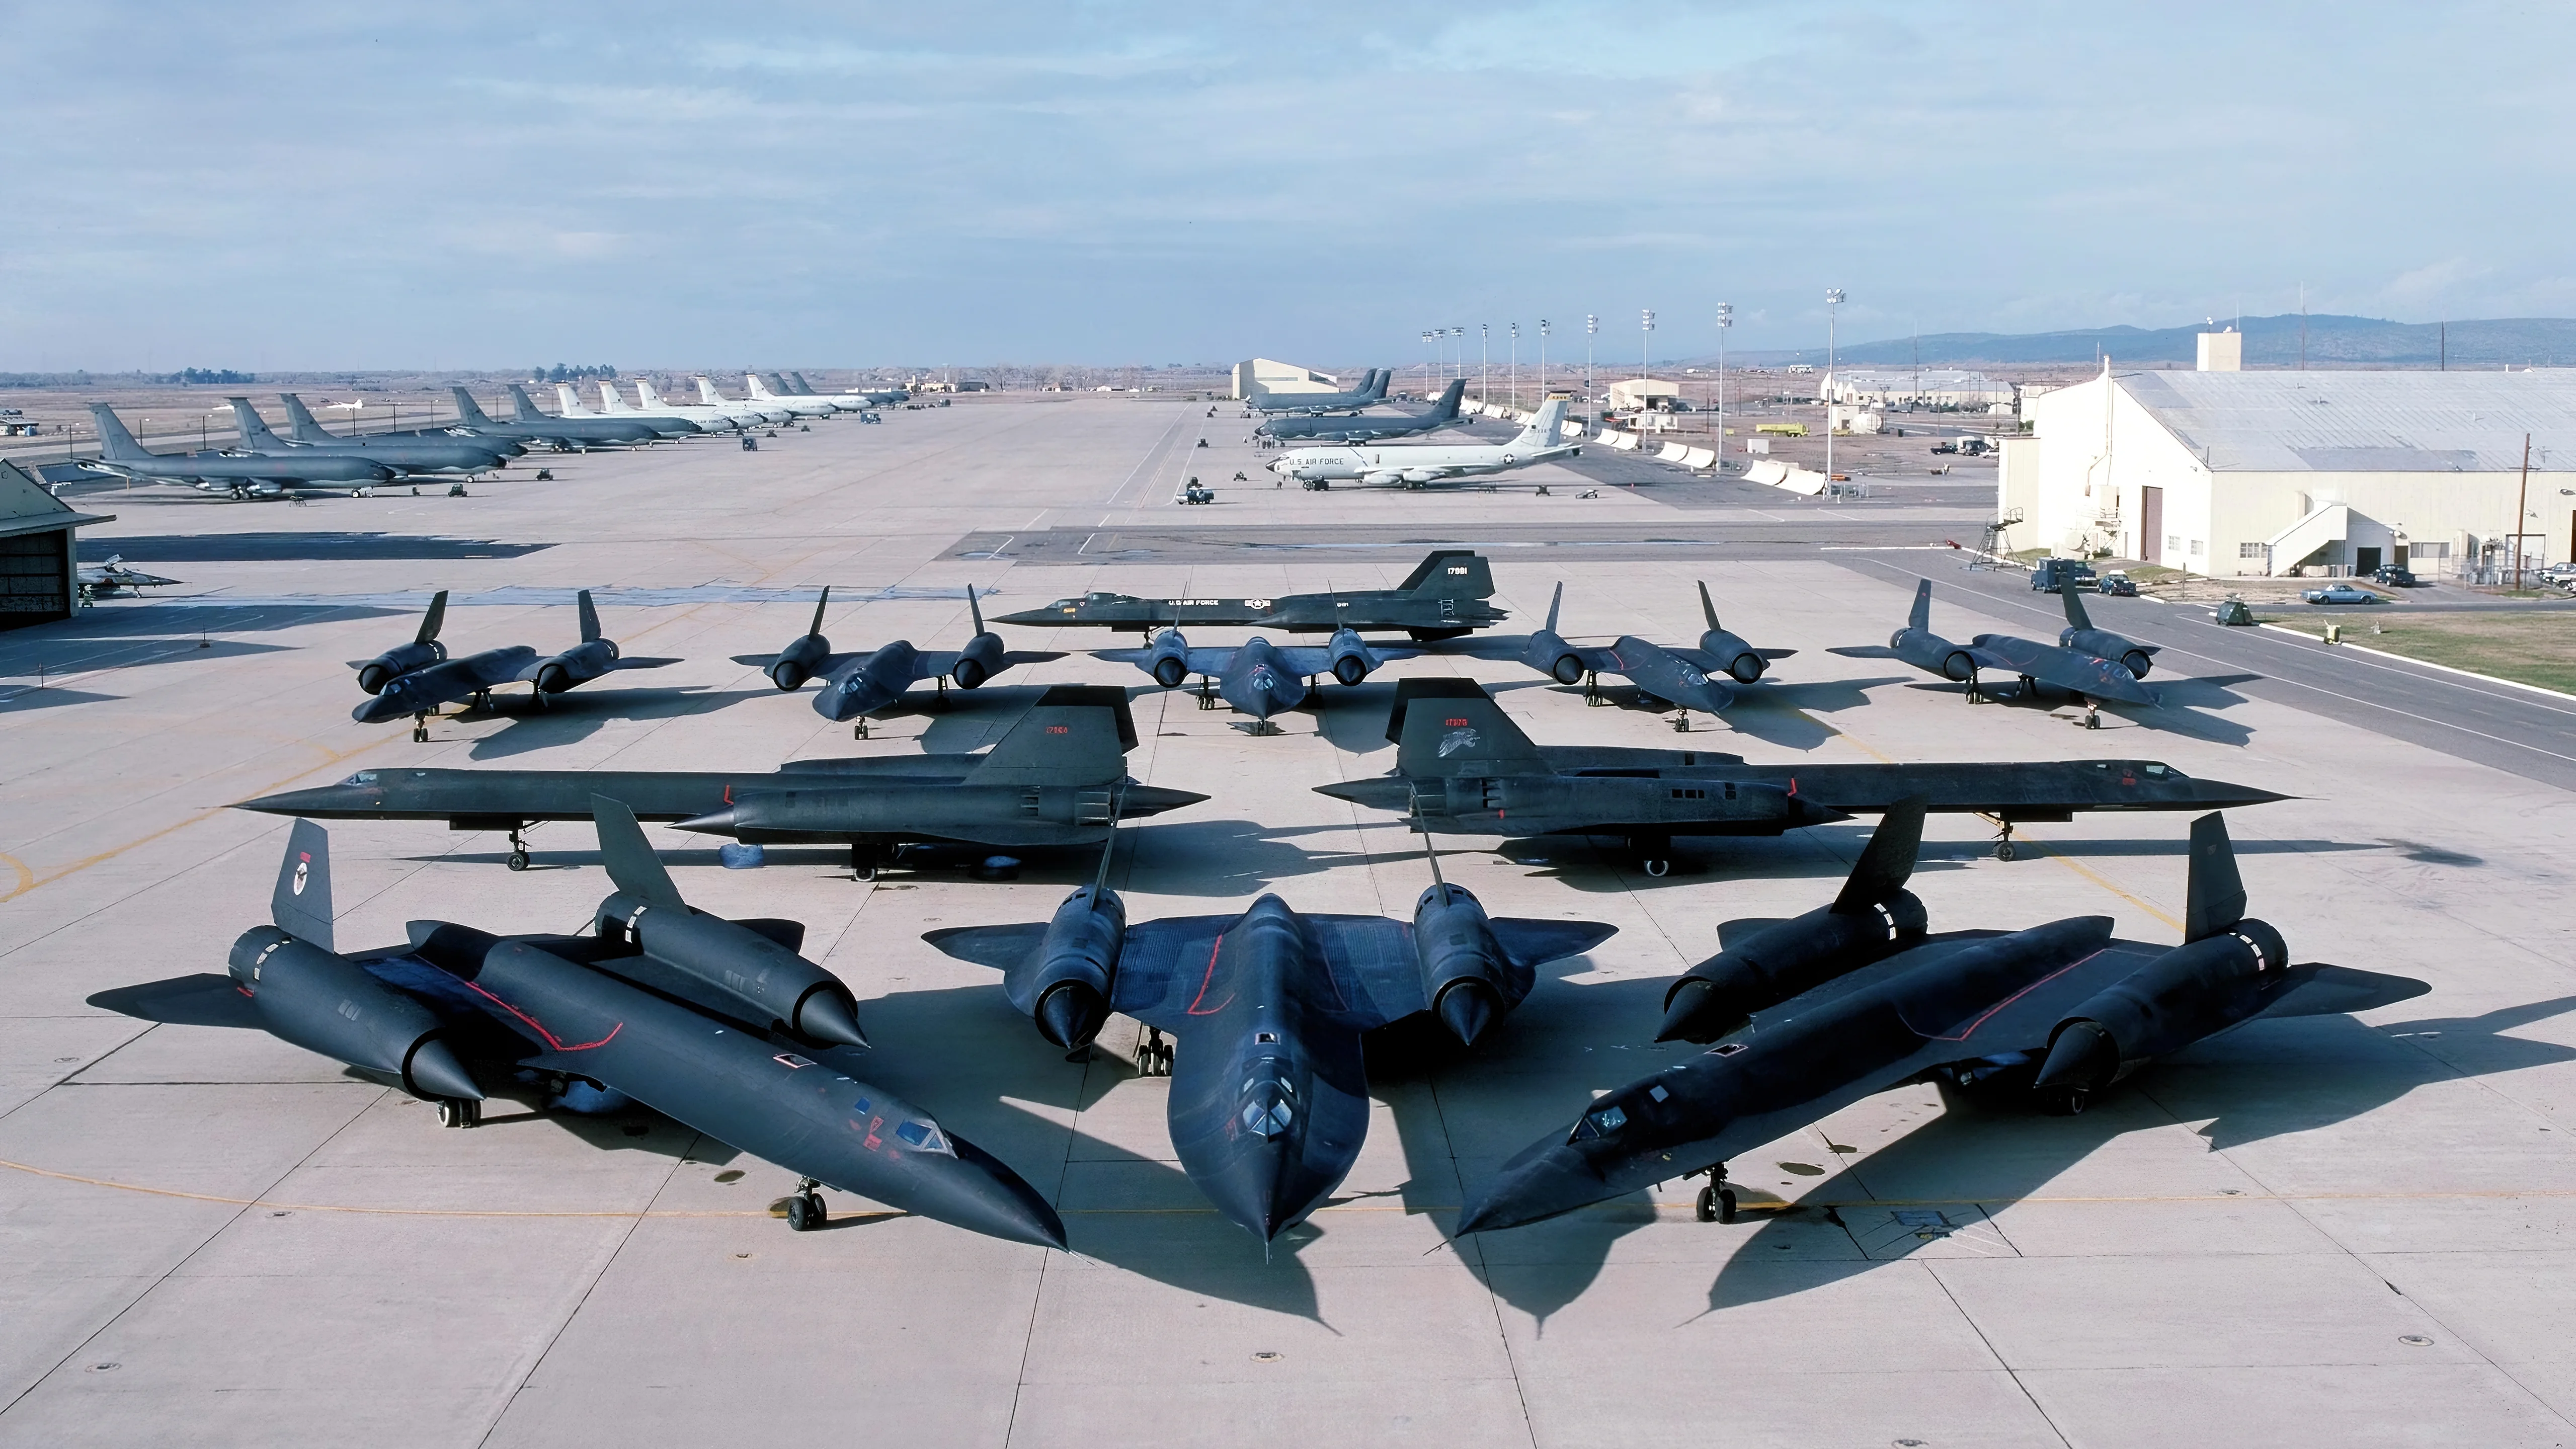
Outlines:
[[2081, 1111], [2089, 1093], [2143, 1062], [2262, 1011], [2264, 990], [2287, 964], [2290, 946], [2264, 920], [2239, 920], [2226, 936], [2177, 946], [2058, 1021], [2030, 1085], [2048, 1106]]

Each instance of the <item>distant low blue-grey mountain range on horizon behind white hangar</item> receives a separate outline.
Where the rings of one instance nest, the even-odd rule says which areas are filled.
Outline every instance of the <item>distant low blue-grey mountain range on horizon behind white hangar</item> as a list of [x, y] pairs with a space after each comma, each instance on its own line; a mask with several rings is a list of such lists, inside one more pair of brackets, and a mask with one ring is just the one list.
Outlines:
[[[2246, 366], [2298, 366], [2298, 312], [2280, 317], [2221, 320], [2246, 335]], [[2445, 330], [2450, 366], [2566, 366], [2576, 364], [2576, 317], [2494, 317], [2483, 322], [2391, 322], [2385, 317], [2308, 315], [2308, 366], [2442, 366]], [[2112, 364], [2200, 361], [2200, 333], [2187, 327], [2087, 327], [2079, 333], [1927, 333], [1852, 343], [1834, 356], [1844, 366], [1924, 366], [1958, 364], [2089, 364], [2105, 353]], [[1917, 353], [1919, 348], [1919, 353]], [[1824, 348], [1801, 353], [1739, 353], [1752, 366], [1824, 364]]]

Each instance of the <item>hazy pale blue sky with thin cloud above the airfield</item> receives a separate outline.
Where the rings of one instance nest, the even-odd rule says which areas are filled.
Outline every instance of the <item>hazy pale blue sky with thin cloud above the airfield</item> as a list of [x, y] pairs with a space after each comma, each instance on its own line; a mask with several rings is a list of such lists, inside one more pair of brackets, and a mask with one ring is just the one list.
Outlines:
[[[2576, 315], [2566, 5], [13, 5], [0, 369]], [[1504, 356], [1497, 340], [1494, 356]]]

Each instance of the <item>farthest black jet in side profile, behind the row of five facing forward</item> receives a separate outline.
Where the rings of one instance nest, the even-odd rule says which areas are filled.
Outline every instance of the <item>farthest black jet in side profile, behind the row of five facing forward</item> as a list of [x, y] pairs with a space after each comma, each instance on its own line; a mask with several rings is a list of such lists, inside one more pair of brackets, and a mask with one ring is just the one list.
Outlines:
[[1059, 598], [1046, 608], [1005, 614], [994, 624], [1030, 629], [1090, 627], [1126, 634], [1185, 629], [1280, 629], [1288, 634], [1334, 634], [1340, 629], [1394, 632], [1414, 639], [1455, 639], [1510, 619], [1489, 603], [1494, 567], [1476, 549], [1432, 549], [1396, 588], [1355, 593], [1288, 593], [1280, 598], [1136, 598], [1128, 593], [1084, 593]]

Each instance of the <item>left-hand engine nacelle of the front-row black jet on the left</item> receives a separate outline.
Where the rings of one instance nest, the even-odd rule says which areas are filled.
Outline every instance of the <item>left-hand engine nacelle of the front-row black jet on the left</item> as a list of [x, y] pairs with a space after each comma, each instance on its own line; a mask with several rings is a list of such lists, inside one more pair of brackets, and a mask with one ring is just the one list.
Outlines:
[[482, 1101], [474, 1075], [440, 1039], [446, 1021], [345, 957], [252, 926], [232, 944], [232, 980], [270, 1034], [307, 1052], [402, 1078], [412, 1096]]

